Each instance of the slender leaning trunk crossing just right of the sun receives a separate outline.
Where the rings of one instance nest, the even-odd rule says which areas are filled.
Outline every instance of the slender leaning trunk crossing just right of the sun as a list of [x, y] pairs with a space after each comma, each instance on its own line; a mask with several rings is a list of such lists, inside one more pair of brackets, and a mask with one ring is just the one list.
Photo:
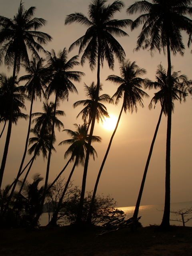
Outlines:
[[111, 138], [110, 138], [110, 142], [109, 142], [107, 151], [106, 151], [106, 153], [105, 153], [103, 162], [102, 162], [102, 164], [101, 164], [101, 167], [100, 167], [100, 170], [99, 170], [99, 173], [98, 173], [98, 176], [97, 176], [97, 180], [96, 180], [96, 184], [95, 184], [95, 187], [94, 187], [93, 196], [92, 196], [92, 200], [91, 200], [91, 204], [90, 204], [90, 209], [89, 209], [89, 213], [88, 213], [88, 217], [87, 217], [87, 222], [88, 222], [88, 223], [91, 223], [91, 219], [92, 219], [92, 210], [93, 210], [93, 207], [94, 207], [94, 201], [95, 201], [95, 196], [96, 196], [96, 191], [97, 191], [99, 179], [100, 179], [100, 176], [101, 176], [101, 173], [102, 173], [102, 170], [103, 170], [105, 161], [106, 161], [106, 159], [107, 159], [107, 156], [108, 156], [108, 153], [109, 153], [111, 144], [112, 144], [113, 137], [114, 137], [114, 135], [115, 135], [115, 133], [116, 133], [116, 130], [117, 130], [117, 128], [118, 128], [118, 124], [119, 124], [119, 121], [120, 121], [120, 118], [121, 118], [121, 115], [122, 115], [123, 108], [124, 108], [124, 106], [122, 106], [122, 108], [121, 108], [121, 111], [120, 111], [120, 114], [119, 114], [119, 117], [118, 117], [118, 120], [117, 120], [116, 127], [115, 127], [115, 129], [114, 129], [114, 132], [113, 132]]

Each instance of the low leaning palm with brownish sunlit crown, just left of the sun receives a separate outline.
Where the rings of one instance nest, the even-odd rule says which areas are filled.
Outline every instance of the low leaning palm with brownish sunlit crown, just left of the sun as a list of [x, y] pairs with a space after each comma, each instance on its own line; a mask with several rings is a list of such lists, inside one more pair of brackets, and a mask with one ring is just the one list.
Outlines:
[[[75, 132], [72, 130], [67, 130], [67, 129], [64, 130], [72, 137], [72, 139], [64, 140], [64, 141], [60, 142], [60, 144], [59, 144], [59, 145], [71, 144], [71, 146], [65, 152], [64, 158], [66, 158], [68, 155], [71, 154], [70, 159], [72, 161], [74, 161], [74, 165], [70, 172], [68, 180], [65, 184], [65, 188], [64, 188], [62, 196], [58, 202], [56, 211], [54, 212], [52, 220], [50, 221], [51, 225], [56, 225], [58, 212], [61, 208], [61, 204], [62, 204], [64, 195], [65, 195], [68, 185], [70, 183], [70, 180], [71, 180], [71, 177], [72, 177], [75, 167], [78, 166], [79, 164], [81, 164], [83, 166], [84, 162], [85, 162], [86, 151], [87, 151], [87, 147], [88, 147], [88, 138], [89, 138], [89, 135], [87, 134], [88, 124], [83, 124], [81, 126], [78, 124], [74, 124], [74, 126], [76, 127]], [[98, 136], [92, 136], [92, 142], [101, 142], [101, 138]], [[90, 156], [92, 156], [94, 160], [95, 160], [95, 155], [97, 156], [96, 150], [91, 146]], [[49, 189], [50, 189], [50, 187], [49, 187]]]

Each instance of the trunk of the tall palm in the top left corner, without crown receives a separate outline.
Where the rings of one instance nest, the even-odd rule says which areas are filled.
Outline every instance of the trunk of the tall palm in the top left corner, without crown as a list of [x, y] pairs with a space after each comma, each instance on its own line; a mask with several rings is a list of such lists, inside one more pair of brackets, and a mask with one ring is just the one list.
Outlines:
[[2, 185], [3, 174], [4, 174], [4, 170], [5, 170], [6, 159], [7, 159], [8, 148], [9, 148], [9, 142], [10, 142], [10, 137], [11, 137], [12, 115], [13, 115], [13, 93], [14, 93], [14, 82], [15, 82], [15, 76], [16, 76], [16, 64], [17, 64], [17, 53], [15, 53], [13, 76], [12, 76], [9, 123], [8, 123], [6, 142], [5, 142], [4, 153], [3, 153], [3, 158], [2, 158], [2, 162], [1, 162], [1, 169], [0, 169], [0, 189], [1, 189], [1, 185]]

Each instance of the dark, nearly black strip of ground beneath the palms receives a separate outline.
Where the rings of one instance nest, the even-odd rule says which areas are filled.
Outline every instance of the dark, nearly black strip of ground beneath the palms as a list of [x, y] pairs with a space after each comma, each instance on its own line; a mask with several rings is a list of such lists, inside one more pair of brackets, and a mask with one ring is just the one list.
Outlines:
[[192, 256], [192, 227], [129, 228], [97, 236], [98, 228], [71, 226], [0, 230], [0, 256]]

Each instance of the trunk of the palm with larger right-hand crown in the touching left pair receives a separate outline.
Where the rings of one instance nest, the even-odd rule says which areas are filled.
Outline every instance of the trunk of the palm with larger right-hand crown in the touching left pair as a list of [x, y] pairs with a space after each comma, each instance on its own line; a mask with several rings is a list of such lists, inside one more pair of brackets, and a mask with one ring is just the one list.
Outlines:
[[53, 145], [53, 138], [54, 138], [54, 126], [55, 126], [55, 113], [56, 113], [56, 107], [57, 107], [57, 98], [58, 98], [58, 92], [56, 91], [56, 96], [55, 96], [55, 106], [54, 106], [54, 112], [53, 112], [53, 122], [52, 122], [52, 132], [51, 132], [51, 139], [50, 139], [50, 146], [49, 146], [49, 154], [48, 154], [48, 160], [47, 160], [47, 170], [46, 170], [46, 177], [45, 177], [45, 184], [44, 184], [44, 191], [42, 194], [42, 200], [41, 200], [41, 205], [40, 209], [34, 219], [34, 225], [37, 224], [42, 211], [43, 211], [43, 205], [46, 197], [46, 192], [47, 192], [47, 184], [48, 184], [48, 178], [49, 178], [49, 169], [50, 169], [50, 160], [51, 160], [51, 151], [52, 151], [52, 145]]

